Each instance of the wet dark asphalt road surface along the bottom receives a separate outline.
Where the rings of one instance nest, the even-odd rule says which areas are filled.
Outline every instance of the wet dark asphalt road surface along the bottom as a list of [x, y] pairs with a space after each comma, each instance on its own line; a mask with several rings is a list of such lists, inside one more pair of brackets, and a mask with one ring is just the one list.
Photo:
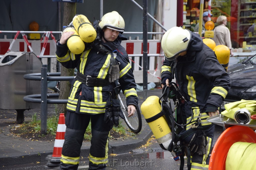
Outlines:
[[[88, 158], [83, 158], [79, 164], [79, 170], [88, 169]], [[186, 163], [186, 160], [185, 160]], [[46, 163], [24, 164], [12, 167], [1, 167], [0, 169], [9, 170], [43, 170]], [[180, 161], [174, 161], [169, 151], [150, 152], [150, 153], [126, 153], [111, 156], [109, 155], [109, 164], [106, 170], [178, 170]], [[185, 168], [186, 165], [185, 165]]]

